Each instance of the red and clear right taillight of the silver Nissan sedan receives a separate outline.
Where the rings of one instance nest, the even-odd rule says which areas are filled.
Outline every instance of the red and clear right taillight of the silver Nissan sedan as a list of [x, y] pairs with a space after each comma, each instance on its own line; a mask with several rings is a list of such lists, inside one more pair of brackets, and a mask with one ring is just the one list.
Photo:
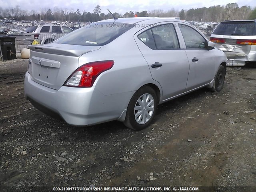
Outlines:
[[82, 65], [76, 69], [66, 80], [64, 86], [92, 87], [96, 78], [104, 71], [109, 70], [114, 61], [97, 61]]

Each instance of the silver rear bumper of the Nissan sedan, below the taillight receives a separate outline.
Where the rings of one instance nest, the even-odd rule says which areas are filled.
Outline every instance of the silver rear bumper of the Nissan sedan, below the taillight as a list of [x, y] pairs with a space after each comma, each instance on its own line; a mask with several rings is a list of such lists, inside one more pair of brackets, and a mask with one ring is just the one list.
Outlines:
[[[34, 82], [27, 72], [24, 81], [25, 98], [38, 110], [60, 116], [68, 124], [87, 126], [111, 120], [118, 120], [132, 92], [103, 95], [96, 88], [74, 88], [62, 86], [54, 90]], [[123, 100], [124, 99], [124, 100]], [[122, 101], [122, 102], [121, 102]]]

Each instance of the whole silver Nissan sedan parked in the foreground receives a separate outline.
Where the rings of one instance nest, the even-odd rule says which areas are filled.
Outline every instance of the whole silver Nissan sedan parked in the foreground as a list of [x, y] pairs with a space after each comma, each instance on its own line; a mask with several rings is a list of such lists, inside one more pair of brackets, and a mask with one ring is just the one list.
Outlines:
[[148, 126], [158, 104], [207, 86], [219, 92], [226, 56], [190, 24], [168, 18], [121, 18], [31, 45], [25, 98], [68, 124], [111, 120]]

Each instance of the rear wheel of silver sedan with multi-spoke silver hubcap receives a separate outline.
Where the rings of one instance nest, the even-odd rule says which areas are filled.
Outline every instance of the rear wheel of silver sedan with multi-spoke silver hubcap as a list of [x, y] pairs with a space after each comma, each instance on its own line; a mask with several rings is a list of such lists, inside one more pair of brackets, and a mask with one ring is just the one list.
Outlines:
[[153, 88], [143, 86], [137, 90], [128, 104], [125, 126], [133, 130], [142, 130], [149, 126], [156, 114], [157, 104]]

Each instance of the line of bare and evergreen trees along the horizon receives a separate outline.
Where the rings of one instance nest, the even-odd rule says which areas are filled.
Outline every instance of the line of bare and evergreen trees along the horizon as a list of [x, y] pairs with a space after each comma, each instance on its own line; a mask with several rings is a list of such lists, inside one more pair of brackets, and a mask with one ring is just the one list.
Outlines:
[[[129, 11], [125, 14], [114, 12], [117, 18], [122, 17], [180, 17], [181, 20], [193, 20], [202, 22], [220, 22], [223, 20], [246, 20], [256, 18], [256, 8], [252, 10], [250, 6], [239, 7], [237, 3], [229, 3], [226, 6], [211, 6], [209, 8], [196, 8], [189, 10], [175, 10], [174, 8], [164, 10], [151, 10], [134, 12]], [[96, 22], [99, 20], [110, 19], [113, 16], [108, 13], [102, 13], [102, 8], [97, 5], [91, 12], [74, 10], [73, 8], [40, 8], [40, 10], [22, 10], [19, 6], [15, 8], [3, 9], [0, 7], [0, 19], [14, 18], [16, 20], [44, 20], [44, 21], [78, 21], [80, 22]]]

